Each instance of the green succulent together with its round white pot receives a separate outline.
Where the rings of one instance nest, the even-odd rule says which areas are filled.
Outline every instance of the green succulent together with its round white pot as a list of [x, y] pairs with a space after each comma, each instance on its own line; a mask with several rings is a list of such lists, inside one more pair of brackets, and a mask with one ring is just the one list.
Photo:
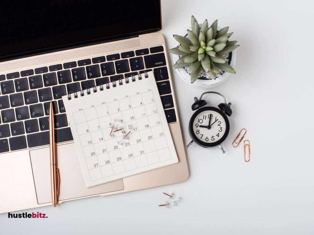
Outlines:
[[237, 41], [229, 41], [233, 33], [228, 33], [229, 27], [218, 28], [218, 21], [208, 27], [207, 19], [198, 24], [194, 16], [191, 28], [187, 33], [173, 35], [176, 47], [169, 50], [174, 54], [174, 69], [193, 86], [208, 88], [225, 81], [236, 61], [235, 49]]

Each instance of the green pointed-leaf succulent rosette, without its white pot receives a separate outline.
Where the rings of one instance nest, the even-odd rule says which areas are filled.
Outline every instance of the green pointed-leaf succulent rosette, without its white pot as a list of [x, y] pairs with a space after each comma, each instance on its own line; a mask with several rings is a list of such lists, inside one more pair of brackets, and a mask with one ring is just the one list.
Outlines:
[[217, 32], [218, 21], [208, 28], [207, 19], [199, 26], [194, 16], [191, 18], [191, 30], [187, 30], [188, 38], [173, 35], [180, 43], [179, 46], [169, 50], [170, 53], [180, 55], [181, 58], [173, 65], [174, 69], [190, 65], [189, 74], [191, 83], [195, 82], [202, 69], [213, 79], [216, 79], [219, 69], [228, 73], [236, 71], [226, 63], [223, 55], [235, 50], [239, 45], [237, 41], [228, 41], [233, 33], [228, 33], [229, 27]]

